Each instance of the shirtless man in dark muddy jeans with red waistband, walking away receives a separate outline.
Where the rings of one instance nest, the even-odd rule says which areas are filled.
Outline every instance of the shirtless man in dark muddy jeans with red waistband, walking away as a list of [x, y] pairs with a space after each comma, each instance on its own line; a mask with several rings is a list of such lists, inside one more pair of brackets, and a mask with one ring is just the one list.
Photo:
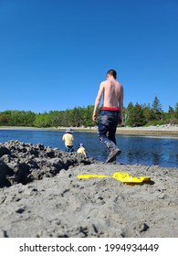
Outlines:
[[107, 72], [107, 80], [100, 83], [99, 92], [95, 101], [93, 121], [97, 120], [97, 111], [101, 97], [103, 96], [103, 107], [99, 116], [99, 140], [105, 144], [110, 152], [107, 163], [113, 162], [121, 151], [116, 146], [116, 129], [122, 120], [123, 87], [116, 80], [117, 72], [110, 69]]

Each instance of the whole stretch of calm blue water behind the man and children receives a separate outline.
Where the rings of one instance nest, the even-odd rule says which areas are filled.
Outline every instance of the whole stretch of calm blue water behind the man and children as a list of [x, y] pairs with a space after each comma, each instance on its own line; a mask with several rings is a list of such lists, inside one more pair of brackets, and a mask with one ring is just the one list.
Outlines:
[[[0, 131], [0, 143], [9, 140], [18, 140], [32, 144], [45, 144], [64, 150], [61, 132], [48, 131]], [[108, 153], [103, 144], [99, 142], [97, 133], [74, 134], [74, 146], [79, 143], [85, 145], [87, 155], [99, 161], [105, 161]], [[178, 138], [138, 137], [117, 134], [117, 144], [122, 154], [118, 163], [161, 165], [165, 167], [178, 167]]]

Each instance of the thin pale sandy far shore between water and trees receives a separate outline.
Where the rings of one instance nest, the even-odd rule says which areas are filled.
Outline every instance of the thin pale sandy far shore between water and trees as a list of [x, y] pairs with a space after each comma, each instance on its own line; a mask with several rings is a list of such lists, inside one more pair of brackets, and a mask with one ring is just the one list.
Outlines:
[[[95, 127], [71, 127], [76, 132], [97, 132], [97, 126]], [[0, 126], [0, 130], [25, 130], [25, 131], [58, 131], [65, 132], [66, 127], [23, 127], [23, 126]], [[118, 127], [118, 134], [131, 134], [131, 135], [169, 135], [178, 136], [178, 125], [159, 125], [148, 127]]]

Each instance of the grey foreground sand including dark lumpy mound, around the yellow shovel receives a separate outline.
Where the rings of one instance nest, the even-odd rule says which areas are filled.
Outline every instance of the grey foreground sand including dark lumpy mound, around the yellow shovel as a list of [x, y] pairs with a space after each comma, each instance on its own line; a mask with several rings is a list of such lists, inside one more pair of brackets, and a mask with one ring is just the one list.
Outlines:
[[[151, 176], [127, 185], [81, 174]], [[43, 144], [0, 144], [0, 237], [177, 237], [178, 168], [103, 164]]]

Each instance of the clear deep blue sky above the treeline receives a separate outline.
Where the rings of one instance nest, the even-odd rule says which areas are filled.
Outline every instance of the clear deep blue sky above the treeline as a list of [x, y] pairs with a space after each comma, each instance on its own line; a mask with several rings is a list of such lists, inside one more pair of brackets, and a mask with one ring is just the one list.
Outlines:
[[116, 69], [124, 106], [178, 102], [177, 0], [0, 0], [0, 112], [94, 104]]

